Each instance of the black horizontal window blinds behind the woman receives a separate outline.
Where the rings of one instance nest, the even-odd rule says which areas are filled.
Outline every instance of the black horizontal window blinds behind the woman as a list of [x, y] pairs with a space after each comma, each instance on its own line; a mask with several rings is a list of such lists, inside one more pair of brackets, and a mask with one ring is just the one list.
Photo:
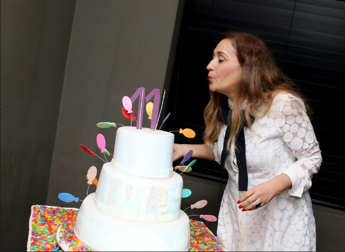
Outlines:
[[[176, 143], [202, 143], [203, 111], [209, 101], [206, 66], [219, 35], [244, 31], [263, 39], [278, 67], [294, 80], [314, 112], [311, 120], [322, 165], [309, 190], [313, 203], [345, 210], [345, 2], [335, 0], [188, 0], [181, 27], [165, 130]], [[180, 161], [180, 160], [179, 160]], [[176, 162], [178, 165], [178, 162]], [[198, 159], [189, 175], [220, 180], [220, 166]], [[225, 180], [226, 182], [226, 180]]]

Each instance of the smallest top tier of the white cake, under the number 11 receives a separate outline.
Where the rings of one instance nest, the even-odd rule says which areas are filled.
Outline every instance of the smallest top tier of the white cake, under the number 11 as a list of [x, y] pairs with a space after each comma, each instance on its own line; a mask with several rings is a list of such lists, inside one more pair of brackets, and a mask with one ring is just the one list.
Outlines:
[[116, 132], [111, 166], [124, 173], [148, 178], [172, 176], [174, 134], [136, 127], [120, 127]]

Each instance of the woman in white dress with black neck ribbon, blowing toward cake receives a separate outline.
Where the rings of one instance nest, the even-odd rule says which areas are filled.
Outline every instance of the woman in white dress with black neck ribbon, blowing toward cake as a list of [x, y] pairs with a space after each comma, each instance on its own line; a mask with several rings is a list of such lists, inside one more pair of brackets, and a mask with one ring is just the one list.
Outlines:
[[226, 250], [316, 251], [308, 189], [322, 157], [307, 104], [259, 38], [228, 32], [218, 42], [205, 144], [175, 144], [173, 159], [193, 150], [228, 171], [217, 228]]

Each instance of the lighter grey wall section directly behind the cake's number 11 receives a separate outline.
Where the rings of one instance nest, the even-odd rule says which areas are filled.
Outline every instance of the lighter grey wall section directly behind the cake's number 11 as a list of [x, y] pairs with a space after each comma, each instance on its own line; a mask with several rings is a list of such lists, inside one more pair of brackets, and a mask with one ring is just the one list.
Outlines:
[[[130, 119], [122, 115], [122, 98], [131, 97], [138, 87], [145, 87], [147, 95], [154, 88], [159, 88], [162, 94], [164, 86], [170, 85], [166, 76], [171, 75], [173, 64], [169, 62], [175, 57], [177, 41], [173, 38], [174, 28], [178, 26], [178, 11], [183, 2], [77, 2], [47, 204], [80, 207], [81, 202], [61, 202], [57, 195], [68, 192], [83, 200], [88, 188], [85, 178], [88, 169], [96, 166], [98, 178], [104, 164], [85, 153], [80, 144], [101, 156], [96, 136], [102, 133], [106, 149], [113, 153], [117, 128], [98, 128], [96, 124], [114, 122], [130, 126]], [[136, 113], [137, 102], [133, 109]], [[150, 126], [147, 118], [143, 122], [144, 127]], [[95, 190], [91, 186], [88, 193]]]

